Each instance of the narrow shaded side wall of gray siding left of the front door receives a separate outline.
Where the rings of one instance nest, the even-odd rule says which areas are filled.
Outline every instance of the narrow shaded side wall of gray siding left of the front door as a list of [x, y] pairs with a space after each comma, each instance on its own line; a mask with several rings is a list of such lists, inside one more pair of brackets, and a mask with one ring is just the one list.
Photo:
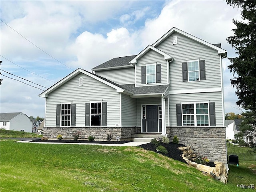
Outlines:
[[137, 100], [122, 94], [122, 127], [137, 126]]

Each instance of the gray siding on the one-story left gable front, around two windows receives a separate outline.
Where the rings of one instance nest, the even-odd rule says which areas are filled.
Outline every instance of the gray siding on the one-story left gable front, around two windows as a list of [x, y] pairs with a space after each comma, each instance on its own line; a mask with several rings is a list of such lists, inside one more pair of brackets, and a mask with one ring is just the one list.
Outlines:
[[[83, 77], [84, 86], [78, 86], [80, 77]], [[62, 102], [76, 104], [76, 127], [85, 126], [85, 104], [90, 101], [107, 102], [108, 127], [120, 123], [120, 97], [116, 89], [80, 73], [51, 92], [46, 98], [45, 126], [56, 126], [56, 105]]]

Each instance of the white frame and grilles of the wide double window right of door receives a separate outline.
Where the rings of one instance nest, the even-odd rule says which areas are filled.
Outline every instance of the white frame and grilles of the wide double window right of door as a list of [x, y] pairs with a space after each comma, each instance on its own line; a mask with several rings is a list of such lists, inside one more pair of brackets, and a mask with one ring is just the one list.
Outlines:
[[[197, 118], [196, 115], [206, 115], [206, 114], [196, 114], [196, 104], [204, 104], [207, 103], [208, 105], [208, 125], [197, 125]], [[184, 125], [183, 124], [183, 115], [187, 115], [187, 114], [183, 114], [183, 108], [182, 108], [182, 104], [193, 104], [194, 105], [194, 114], [188, 114], [188, 115], [193, 115], [194, 116], [194, 125]], [[210, 127], [210, 110], [209, 110], [209, 101], [199, 101], [199, 102], [182, 102], [181, 103], [181, 117], [182, 117], [182, 126], [187, 126], [187, 127], [196, 127], [196, 126], [200, 126], [200, 127]]]

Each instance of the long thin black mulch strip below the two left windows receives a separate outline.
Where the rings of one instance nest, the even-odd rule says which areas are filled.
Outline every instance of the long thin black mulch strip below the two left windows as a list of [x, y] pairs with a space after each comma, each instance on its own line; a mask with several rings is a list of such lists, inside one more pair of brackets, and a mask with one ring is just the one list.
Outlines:
[[62, 140], [44, 140], [36, 139], [31, 142], [49, 142], [49, 143], [100, 143], [100, 144], [124, 144], [131, 141], [88, 141], [88, 140], [72, 140], [72, 139], [62, 139]]

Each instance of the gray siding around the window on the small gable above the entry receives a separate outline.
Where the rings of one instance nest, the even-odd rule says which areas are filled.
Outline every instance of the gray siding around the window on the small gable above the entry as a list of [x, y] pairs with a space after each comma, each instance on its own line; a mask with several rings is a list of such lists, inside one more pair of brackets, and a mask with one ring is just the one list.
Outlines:
[[[161, 64], [161, 83], [155, 84], [141, 84], [141, 67], [146, 66], [146, 64]], [[160, 85], [167, 84], [167, 64], [164, 56], [155, 52], [153, 50], [149, 50], [146, 54], [144, 54], [136, 64], [136, 86], [146, 86], [146, 85]]]

